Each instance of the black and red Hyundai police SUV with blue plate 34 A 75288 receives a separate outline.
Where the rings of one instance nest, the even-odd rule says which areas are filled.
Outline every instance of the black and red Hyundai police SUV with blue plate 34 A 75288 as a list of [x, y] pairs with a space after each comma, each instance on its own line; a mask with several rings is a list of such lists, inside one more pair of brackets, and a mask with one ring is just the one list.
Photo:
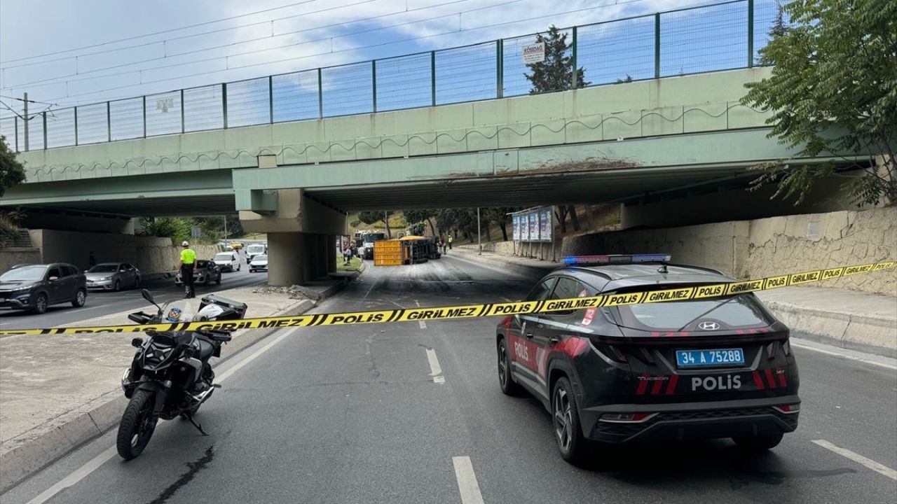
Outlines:
[[[669, 259], [565, 257], [526, 300], [736, 282]], [[505, 317], [496, 343], [502, 392], [542, 401], [571, 463], [596, 442], [732, 438], [759, 451], [797, 429], [788, 327], [750, 292]]]

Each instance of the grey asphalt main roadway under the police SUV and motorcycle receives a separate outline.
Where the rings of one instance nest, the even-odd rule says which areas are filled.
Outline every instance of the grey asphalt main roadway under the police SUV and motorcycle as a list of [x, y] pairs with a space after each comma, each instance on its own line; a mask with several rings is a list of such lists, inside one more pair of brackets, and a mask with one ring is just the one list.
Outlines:
[[[532, 283], [449, 255], [371, 267], [314, 312], [517, 300]], [[112, 430], [0, 501], [894, 501], [893, 364], [795, 348], [801, 425], [768, 454], [724, 439], [605, 448], [577, 468], [558, 455], [540, 403], [501, 394], [498, 321], [284, 329], [218, 371], [223, 387], [197, 416], [209, 436], [163, 422], [125, 463]]]

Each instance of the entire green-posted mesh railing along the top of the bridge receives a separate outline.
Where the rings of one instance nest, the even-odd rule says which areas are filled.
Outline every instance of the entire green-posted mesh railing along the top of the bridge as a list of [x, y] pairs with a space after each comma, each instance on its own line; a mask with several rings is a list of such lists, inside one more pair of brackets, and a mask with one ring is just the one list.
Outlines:
[[[734, 0], [563, 29], [570, 79], [548, 91], [759, 65], [777, 8]], [[535, 42], [530, 34], [55, 109], [27, 122], [3, 117], [0, 135], [22, 152], [526, 95], [522, 52]]]

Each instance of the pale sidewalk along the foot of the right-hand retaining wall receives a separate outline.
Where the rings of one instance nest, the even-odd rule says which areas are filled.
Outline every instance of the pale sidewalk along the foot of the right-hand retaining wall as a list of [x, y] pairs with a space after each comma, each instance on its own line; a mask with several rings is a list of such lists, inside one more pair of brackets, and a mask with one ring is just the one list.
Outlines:
[[[533, 278], [560, 263], [455, 248], [456, 257]], [[788, 273], [788, 272], [782, 272]], [[897, 358], [897, 298], [825, 287], [757, 292], [791, 334], [820, 343]]]

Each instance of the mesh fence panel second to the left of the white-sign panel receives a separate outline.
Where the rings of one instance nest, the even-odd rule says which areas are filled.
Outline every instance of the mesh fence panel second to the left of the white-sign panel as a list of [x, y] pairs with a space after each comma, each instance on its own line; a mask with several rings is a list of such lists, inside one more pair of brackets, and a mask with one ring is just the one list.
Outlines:
[[377, 109], [429, 107], [432, 103], [430, 53], [377, 60]]

